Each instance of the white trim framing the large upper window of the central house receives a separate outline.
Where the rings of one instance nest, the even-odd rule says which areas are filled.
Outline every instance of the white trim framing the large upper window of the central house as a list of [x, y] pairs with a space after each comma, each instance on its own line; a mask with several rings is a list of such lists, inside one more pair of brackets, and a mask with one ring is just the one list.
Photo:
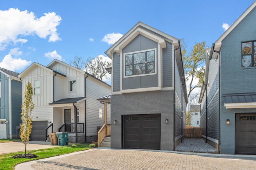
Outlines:
[[[155, 63], [155, 72], [154, 73], [149, 73], [149, 74], [137, 74], [137, 75], [126, 76], [125, 75], [125, 72], [126, 72], [126, 69], [125, 69], [125, 66], [126, 66], [126, 64], [125, 64], [125, 55], [135, 54], [135, 53], [143, 53], [143, 52], [146, 52], [146, 51], [155, 51], [155, 61], [154, 61], [154, 63]], [[124, 64], [123, 64], [124, 65], [123, 66], [124, 72], [123, 72], [123, 74], [124, 74], [124, 78], [138, 77], [138, 76], [149, 76], [149, 75], [157, 74], [157, 69], [156, 69], [156, 67], [158, 67], [157, 66], [157, 61], [156, 61], [156, 56], [157, 55], [158, 54], [156, 53], [156, 48], [154, 48], [154, 49], [146, 49], [146, 50], [142, 50], [142, 51], [133, 51], [133, 52], [129, 52], [129, 53], [124, 53], [124, 55], [123, 55], [123, 61], [124, 61]]]

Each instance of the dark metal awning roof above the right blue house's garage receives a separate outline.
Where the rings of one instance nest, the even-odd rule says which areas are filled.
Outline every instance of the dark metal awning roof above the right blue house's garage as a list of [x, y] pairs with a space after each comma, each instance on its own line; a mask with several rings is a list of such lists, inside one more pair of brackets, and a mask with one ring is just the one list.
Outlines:
[[223, 94], [224, 103], [251, 103], [256, 102], [256, 93]]

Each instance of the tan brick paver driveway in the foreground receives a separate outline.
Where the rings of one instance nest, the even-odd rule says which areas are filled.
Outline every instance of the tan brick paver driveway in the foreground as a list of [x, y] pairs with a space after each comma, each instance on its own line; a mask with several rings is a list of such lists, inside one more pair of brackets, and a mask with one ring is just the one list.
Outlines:
[[34, 170], [255, 170], [256, 158], [95, 149], [32, 164]]

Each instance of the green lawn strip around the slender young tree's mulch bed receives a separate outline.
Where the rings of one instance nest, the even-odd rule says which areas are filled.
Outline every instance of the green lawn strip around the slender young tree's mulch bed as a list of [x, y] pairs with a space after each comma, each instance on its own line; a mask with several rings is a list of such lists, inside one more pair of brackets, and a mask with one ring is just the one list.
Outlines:
[[[4, 140], [0, 140], [0, 142], [3, 142], [3, 141]], [[24, 147], [24, 149], [25, 149], [25, 147]], [[66, 145], [66, 146], [27, 151], [26, 153], [32, 153], [32, 154], [35, 154], [38, 156], [37, 158], [31, 158], [31, 159], [26, 159], [26, 158], [14, 159], [14, 158], [12, 158], [12, 156], [14, 156], [16, 154], [24, 154], [24, 151], [10, 153], [10, 154], [1, 154], [0, 155], [0, 170], [14, 170], [14, 166], [17, 164], [20, 164], [22, 162], [28, 162], [28, 161], [32, 161], [32, 160], [43, 159], [43, 158], [58, 156], [61, 154], [67, 154], [67, 153], [72, 153], [72, 152], [77, 152], [77, 151], [87, 150], [87, 149], [91, 149], [91, 148], [89, 148], [89, 143], [81, 143], [81, 144], [80, 143], [76, 143], [76, 144], [70, 143], [69, 145]]]

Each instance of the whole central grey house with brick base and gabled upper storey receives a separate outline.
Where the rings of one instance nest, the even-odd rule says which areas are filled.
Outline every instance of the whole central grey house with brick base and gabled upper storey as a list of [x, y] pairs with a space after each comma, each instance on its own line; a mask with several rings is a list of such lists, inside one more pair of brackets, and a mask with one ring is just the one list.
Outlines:
[[105, 53], [112, 59], [111, 148], [174, 150], [188, 102], [180, 41], [138, 22]]

